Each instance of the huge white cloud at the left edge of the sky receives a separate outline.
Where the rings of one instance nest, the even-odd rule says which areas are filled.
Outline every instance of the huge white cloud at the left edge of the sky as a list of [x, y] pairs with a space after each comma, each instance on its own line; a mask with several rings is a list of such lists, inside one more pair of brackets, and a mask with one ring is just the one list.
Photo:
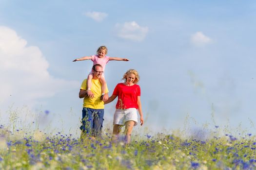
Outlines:
[[56, 79], [49, 74], [49, 63], [36, 46], [8, 28], [0, 26], [0, 104], [30, 105], [77, 87], [75, 81]]

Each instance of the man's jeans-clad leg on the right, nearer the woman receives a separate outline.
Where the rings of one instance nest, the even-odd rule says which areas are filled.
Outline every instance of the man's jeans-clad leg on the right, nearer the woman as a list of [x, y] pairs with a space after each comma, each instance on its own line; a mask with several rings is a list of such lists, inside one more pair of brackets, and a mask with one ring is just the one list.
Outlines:
[[93, 136], [100, 136], [103, 127], [104, 109], [94, 109]]

